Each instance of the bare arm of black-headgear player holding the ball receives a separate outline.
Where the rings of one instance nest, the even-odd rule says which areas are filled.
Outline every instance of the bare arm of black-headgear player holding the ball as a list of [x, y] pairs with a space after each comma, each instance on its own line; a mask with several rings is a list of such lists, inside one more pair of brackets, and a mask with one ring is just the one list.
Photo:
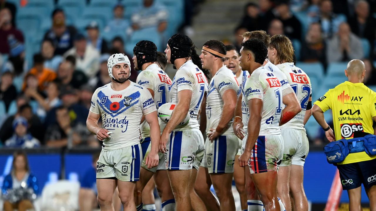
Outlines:
[[171, 115], [170, 121], [168, 121], [161, 135], [161, 141], [159, 143], [159, 150], [162, 153], [166, 152], [167, 139], [170, 133], [187, 116], [189, 107], [191, 104], [191, 99], [192, 99], [192, 91], [189, 89], [183, 89], [177, 93], [177, 100], [178, 100], [177, 105], [175, 106], [174, 112]]

